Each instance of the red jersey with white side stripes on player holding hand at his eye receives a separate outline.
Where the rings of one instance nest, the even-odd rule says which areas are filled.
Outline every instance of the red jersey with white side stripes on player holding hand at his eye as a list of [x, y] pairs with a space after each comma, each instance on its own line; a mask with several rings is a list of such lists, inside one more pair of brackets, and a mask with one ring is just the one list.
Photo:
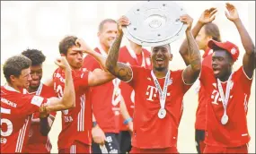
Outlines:
[[[88, 97], [88, 74], [86, 69], [72, 71], [75, 86], [75, 108], [62, 111], [62, 130], [58, 135], [58, 150], [66, 149], [74, 143], [81, 141], [92, 144], [92, 105]], [[57, 68], [53, 74], [54, 90], [58, 98], [63, 97], [65, 88], [65, 72]]]

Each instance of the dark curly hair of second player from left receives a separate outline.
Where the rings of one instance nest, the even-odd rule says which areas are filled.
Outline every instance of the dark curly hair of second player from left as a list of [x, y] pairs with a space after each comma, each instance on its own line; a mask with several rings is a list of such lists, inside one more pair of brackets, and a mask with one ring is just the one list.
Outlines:
[[38, 49], [26, 49], [22, 52], [23, 56], [27, 56], [31, 59], [31, 65], [40, 65], [45, 61], [45, 56], [43, 53]]

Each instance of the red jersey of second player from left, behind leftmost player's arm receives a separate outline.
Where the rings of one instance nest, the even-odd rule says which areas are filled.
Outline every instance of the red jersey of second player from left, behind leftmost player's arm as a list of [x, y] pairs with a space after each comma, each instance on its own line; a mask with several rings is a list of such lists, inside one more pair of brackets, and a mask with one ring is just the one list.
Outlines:
[[[37, 91], [30, 93], [27, 90], [23, 90], [23, 94], [38, 95], [43, 98], [57, 97], [55, 91], [52, 87], [46, 86], [40, 83], [40, 87]], [[55, 118], [56, 112], [51, 112], [49, 116]], [[33, 113], [31, 120], [40, 119], [40, 113]], [[43, 136], [40, 133], [40, 123], [32, 123], [29, 133], [29, 141], [26, 145], [26, 153], [49, 153], [51, 150], [51, 143], [49, 141], [49, 136]]]

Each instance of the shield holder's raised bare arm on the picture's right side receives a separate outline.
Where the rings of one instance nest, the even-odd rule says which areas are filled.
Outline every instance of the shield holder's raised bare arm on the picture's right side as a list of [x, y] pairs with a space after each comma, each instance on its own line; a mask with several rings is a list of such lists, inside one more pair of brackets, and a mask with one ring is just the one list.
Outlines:
[[186, 84], [194, 83], [199, 77], [201, 71], [201, 56], [196, 40], [191, 33], [193, 19], [189, 15], [182, 15], [180, 20], [188, 25], [186, 37], [188, 41], [188, 66], [182, 73], [183, 81]]

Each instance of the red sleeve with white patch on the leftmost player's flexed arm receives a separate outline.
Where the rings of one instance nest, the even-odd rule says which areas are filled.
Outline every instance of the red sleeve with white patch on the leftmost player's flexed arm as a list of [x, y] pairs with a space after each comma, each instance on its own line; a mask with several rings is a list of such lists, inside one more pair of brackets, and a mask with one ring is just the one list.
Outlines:
[[48, 102], [48, 98], [42, 98], [36, 95], [23, 95], [22, 106], [19, 106], [19, 113], [21, 115], [31, 115], [34, 112], [40, 112], [40, 107], [43, 103]]

